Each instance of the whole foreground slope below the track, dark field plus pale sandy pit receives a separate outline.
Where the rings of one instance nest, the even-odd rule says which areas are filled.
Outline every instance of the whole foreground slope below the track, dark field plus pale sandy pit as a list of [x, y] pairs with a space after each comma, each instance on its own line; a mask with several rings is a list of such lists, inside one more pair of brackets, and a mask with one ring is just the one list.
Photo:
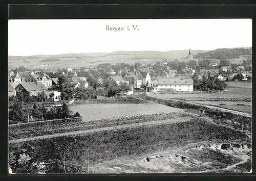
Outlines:
[[89, 173], [248, 172], [251, 168], [241, 166], [250, 164], [247, 135], [198, 118], [10, 141], [9, 149], [31, 150], [39, 161], [62, 156], [80, 165], [81, 173], [87, 173], [88, 159]]

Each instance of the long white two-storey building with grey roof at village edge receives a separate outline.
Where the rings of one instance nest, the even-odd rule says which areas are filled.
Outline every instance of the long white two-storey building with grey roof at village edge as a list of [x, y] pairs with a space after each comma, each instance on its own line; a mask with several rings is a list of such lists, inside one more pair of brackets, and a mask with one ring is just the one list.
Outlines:
[[193, 80], [182, 77], [159, 77], [147, 86], [147, 92], [158, 92], [161, 90], [173, 90], [181, 92], [194, 91]]

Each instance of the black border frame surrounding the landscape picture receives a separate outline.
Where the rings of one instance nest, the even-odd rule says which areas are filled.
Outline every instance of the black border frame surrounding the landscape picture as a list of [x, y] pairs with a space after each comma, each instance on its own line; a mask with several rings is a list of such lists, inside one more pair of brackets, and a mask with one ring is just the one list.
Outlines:
[[[7, 70], [7, 61], [8, 60], [8, 13], [10, 19], [139, 19], [139, 18], [152, 18], [152, 19], [162, 19], [162, 18], [251, 18], [253, 20], [253, 32], [255, 32], [256, 23], [256, 6], [252, 5], [254, 1], [209, 1], [208, 5], [200, 5], [200, 3], [205, 3], [205, 1], [197, 1], [198, 4], [193, 4], [191, 1], [175, 1], [175, 5], [167, 5], [165, 2], [158, 2], [161, 4], [152, 3], [151, 5], [142, 5], [142, 4], [133, 4], [129, 5], [117, 5], [117, 1], [112, 5], [96, 5], [97, 1], [87, 1], [87, 5], [75, 5], [73, 1], [61, 1], [62, 4], [71, 4], [73, 5], [57, 5], [60, 2], [54, 2], [55, 5], [50, 5], [53, 1], [27, 1], [26, 4], [34, 5], [21, 5], [24, 4], [24, 1], [9, 1], [9, 4], [19, 4], [19, 5], [10, 5], [7, 4], [1, 6], [0, 15], [4, 20], [3, 27], [3, 38], [4, 41], [2, 49], [2, 63], [3, 71], [1, 71], [2, 77], [5, 80], [8, 80], [8, 70]], [[225, 2], [231, 2], [232, 4], [223, 5]], [[49, 4], [49, 5], [35, 5], [35, 4]], [[76, 2], [78, 3], [78, 1]], [[84, 3], [79, 1], [79, 3]], [[137, 1], [138, 3], [138, 1]], [[185, 5], [179, 5], [178, 3], [183, 3]], [[215, 4], [215, 5], [214, 5]], [[216, 5], [219, 4], [219, 5]], [[222, 5], [221, 5], [222, 4]], [[236, 5], [235, 5], [236, 4]], [[240, 4], [240, 5], [238, 5]], [[243, 5], [242, 5], [243, 4]], [[253, 60], [255, 56], [255, 35], [253, 34]], [[6, 66], [6, 67], [5, 67]], [[252, 65], [255, 66], [255, 62]], [[253, 74], [255, 70], [253, 69]], [[256, 80], [252, 80], [253, 89], [255, 88]], [[56, 180], [56, 179], [195, 179], [195, 180], [213, 180], [213, 179], [232, 179], [232, 180], [255, 180], [255, 171], [253, 173], [245, 174], [209, 174], [209, 173], [200, 173], [200, 174], [90, 174], [90, 175], [7, 175], [7, 97], [8, 94], [7, 84], [5, 81], [1, 81], [2, 84], [2, 95], [0, 102], [1, 104], [1, 128], [2, 128], [2, 138], [0, 145], [4, 145], [2, 148], [2, 153], [0, 154], [1, 160], [1, 175], [5, 180]], [[252, 93], [252, 99], [254, 102], [255, 92]], [[254, 110], [254, 105], [252, 107]], [[252, 112], [252, 120], [253, 114]], [[252, 121], [252, 127], [255, 123]], [[252, 140], [255, 140], [254, 129], [252, 130]], [[255, 156], [256, 156], [256, 146], [252, 144], [252, 164], [253, 168], [255, 166]], [[2, 180], [0, 178], [0, 180]]]

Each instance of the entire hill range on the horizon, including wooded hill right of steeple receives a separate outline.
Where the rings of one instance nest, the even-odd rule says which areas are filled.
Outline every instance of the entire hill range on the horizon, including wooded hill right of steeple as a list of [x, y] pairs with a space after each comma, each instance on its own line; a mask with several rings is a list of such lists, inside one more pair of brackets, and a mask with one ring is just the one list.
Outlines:
[[[220, 59], [229, 59], [231, 63], [240, 63], [251, 56], [251, 47], [219, 48], [216, 50], [192, 50], [193, 58], [209, 59], [219, 62]], [[170, 51], [114, 51], [112, 53], [83, 53], [61, 55], [9, 56], [9, 69], [25, 66], [35, 68], [42, 64], [49, 64], [51, 68], [96, 66], [101, 63], [145, 63], [154, 64], [166, 60], [187, 62], [188, 49]], [[24, 61], [25, 60], [25, 61]]]

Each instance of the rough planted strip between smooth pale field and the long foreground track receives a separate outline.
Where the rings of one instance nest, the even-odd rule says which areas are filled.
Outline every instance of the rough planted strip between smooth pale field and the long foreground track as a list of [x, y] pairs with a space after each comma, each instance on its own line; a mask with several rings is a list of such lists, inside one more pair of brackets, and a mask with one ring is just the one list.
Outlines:
[[57, 133], [89, 130], [92, 128], [107, 127], [107, 126], [121, 125], [121, 124], [127, 124], [127, 123], [131, 124], [131, 123], [139, 123], [139, 122], [146, 122], [146, 121], [165, 120], [168, 118], [175, 118], [175, 117], [181, 118], [185, 116], [187, 116], [187, 114], [177, 113], [177, 112], [173, 112], [173, 113], [162, 112], [162, 113], [156, 113], [156, 114], [133, 115], [133, 116], [99, 119], [99, 120], [92, 120], [92, 121], [82, 121], [81, 119], [80, 120], [77, 119], [75, 121], [66, 120], [66, 122], [63, 122], [62, 120], [51, 121], [51, 122], [48, 121], [48, 123], [46, 124], [40, 123], [39, 126], [33, 126], [31, 124], [17, 124], [17, 125], [10, 126], [9, 140], [29, 138], [29, 137], [42, 136], [42, 135], [52, 135]]

